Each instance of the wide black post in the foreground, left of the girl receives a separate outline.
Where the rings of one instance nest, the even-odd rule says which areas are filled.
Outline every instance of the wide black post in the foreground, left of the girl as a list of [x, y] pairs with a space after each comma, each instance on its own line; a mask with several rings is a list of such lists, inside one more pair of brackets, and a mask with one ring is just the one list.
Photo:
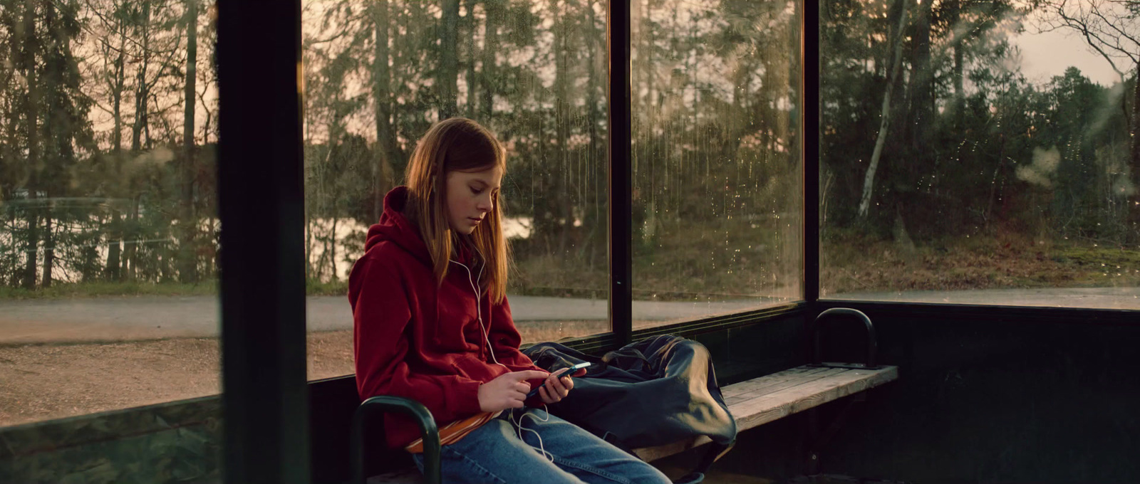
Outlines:
[[308, 483], [301, 3], [218, 5], [223, 475]]

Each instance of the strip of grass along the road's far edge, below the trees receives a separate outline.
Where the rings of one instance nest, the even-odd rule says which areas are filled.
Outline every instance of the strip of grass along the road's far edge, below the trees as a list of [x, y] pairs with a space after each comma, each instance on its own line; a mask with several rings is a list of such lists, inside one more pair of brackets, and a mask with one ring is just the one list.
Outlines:
[[[796, 297], [798, 235], [789, 223], [710, 220], [662, 222], [653, 240], [634, 248], [636, 300], [711, 301], [749, 296]], [[899, 244], [856, 231], [831, 230], [821, 243], [824, 295], [849, 292], [964, 290], [1040, 287], [1140, 286], [1140, 247], [1085, 240], [1040, 240], [1017, 233], [962, 236]], [[516, 260], [516, 295], [604, 298], [604, 257], [588, 263], [568, 254]], [[27, 290], [0, 287], [0, 300], [105, 296], [215, 296], [215, 280], [197, 285], [140, 282], [56, 284]], [[348, 281], [309, 280], [310, 296], [343, 296]]]

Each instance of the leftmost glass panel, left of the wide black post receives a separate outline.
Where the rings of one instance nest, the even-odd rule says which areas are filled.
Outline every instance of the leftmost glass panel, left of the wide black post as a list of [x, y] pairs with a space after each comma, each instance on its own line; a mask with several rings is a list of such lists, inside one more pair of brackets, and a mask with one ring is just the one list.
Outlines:
[[212, 10], [0, 9], [0, 426], [219, 393]]

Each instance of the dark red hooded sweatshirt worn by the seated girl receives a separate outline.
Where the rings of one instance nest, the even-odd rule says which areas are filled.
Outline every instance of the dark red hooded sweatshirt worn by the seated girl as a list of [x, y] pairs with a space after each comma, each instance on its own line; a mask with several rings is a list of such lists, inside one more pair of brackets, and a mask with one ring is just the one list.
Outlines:
[[[510, 371], [542, 369], [519, 351], [522, 338], [506, 300], [492, 304], [479, 288], [470, 251], [451, 257], [437, 285], [427, 246], [404, 216], [407, 197], [407, 187], [384, 197], [384, 213], [368, 229], [365, 254], [349, 277], [357, 391], [360, 400], [415, 399], [443, 427], [480, 412], [479, 385]], [[543, 380], [529, 383], [534, 388]], [[392, 448], [420, 438], [415, 421], [401, 415], [385, 416], [384, 428]]]

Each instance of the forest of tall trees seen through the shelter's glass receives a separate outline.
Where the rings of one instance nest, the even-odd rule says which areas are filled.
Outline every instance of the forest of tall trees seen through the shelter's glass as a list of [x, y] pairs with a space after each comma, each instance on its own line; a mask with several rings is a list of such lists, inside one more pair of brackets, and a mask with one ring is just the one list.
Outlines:
[[[314, 290], [343, 289], [416, 139], [466, 116], [508, 149], [513, 293], [604, 297], [604, 1], [302, 9]], [[798, 297], [804, 142], [820, 145], [831, 290], [1086, 282], [983, 274], [896, 287], [860, 269], [883, 247], [930, 270], [979, 239], [1027, 240], [1052, 252], [1025, 256], [1057, 264], [1102, 256], [1077, 245], [1137, 257], [1132, 3], [823, 0], [822, 55], [808, 60], [820, 65], [820, 132], [806, 139], [795, 1], [632, 9], [637, 298]], [[203, 0], [0, 0], [3, 294], [214, 290], [215, 11]], [[1011, 39], [1047, 30], [1074, 32], [1117, 82], [1076, 68], [1027, 79]], [[912, 269], [894, 270], [922, 273]]]

